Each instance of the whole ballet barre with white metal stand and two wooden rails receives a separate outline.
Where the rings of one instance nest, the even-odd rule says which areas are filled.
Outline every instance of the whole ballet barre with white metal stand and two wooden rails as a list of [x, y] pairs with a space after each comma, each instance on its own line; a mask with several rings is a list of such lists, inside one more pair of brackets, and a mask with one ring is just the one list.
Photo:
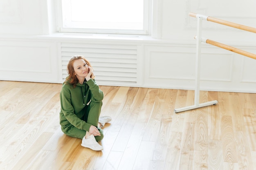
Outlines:
[[197, 35], [195, 36], [196, 39], [196, 58], [195, 58], [195, 101], [194, 101], [194, 105], [193, 106], [186, 106], [183, 108], [176, 108], [174, 109], [175, 113], [179, 113], [179, 112], [183, 112], [186, 110], [192, 110], [195, 108], [201, 108], [201, 107], [205, 107], [205, 106], [210, 106], [210, 105], [216, 105], [218, 103], [217, 100], [213, 100], [211, 102], [205, 102], [202, 104], [199, 104], [199, 96], [200, 96], [200, 67], [201, 67], [201, 42], [205, 42], [207, 44], [211, 44], [217, 47], [220, 47], [222, 49], [226, 49], [229, 51], [232, 51], [234, 53], [238, 53], [241, 55], [244, 55], [246, 57], [250, 57], [256, 60], [256, 54], [253, 53], [249, 53], [247, 51], [243, 51], [237, 48], [234, 48], [232, 46], [228, 46], [226, 44], [222, 44], [220, 42], [216, 42], [213, 40], [209, 40], [209, 39], [205, 39], [202, 38], [202, 20], [207, 20], [210, 22], [215, 22], [217, 24], [222, 24], [222, 25], [226, 25], [226, 26], [230, 26], [236, 29], [241, 29], [244, 31], [249, 31], [252, 33], [256, 33], [256, 28], [250, 27], [250, 26], [245, 26], [245, 25], [241, 25], [241, 24], [236, 24], [234, 22], [229, 22], [229, 21], [225, 21], [225, 20], [220, 20], [218, 18], [213, 18], [210, 16], [206, 16], [206, 15], [201, 15], [201, 14], [196, 14], [196, 13], [189, 13], [189, 16], [191, 17], [195, 17], [197, 18]]

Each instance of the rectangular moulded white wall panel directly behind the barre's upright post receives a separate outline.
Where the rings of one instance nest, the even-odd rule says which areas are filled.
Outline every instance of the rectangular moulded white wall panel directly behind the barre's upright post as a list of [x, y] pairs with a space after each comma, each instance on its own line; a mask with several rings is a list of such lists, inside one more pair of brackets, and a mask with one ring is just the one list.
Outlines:
[[[195, 47], [146, 46], [148, 78], [195, 79]], [[232, 79], [234, 53], [214, 49], [202, 50], [202, 80], [228, 81]]]

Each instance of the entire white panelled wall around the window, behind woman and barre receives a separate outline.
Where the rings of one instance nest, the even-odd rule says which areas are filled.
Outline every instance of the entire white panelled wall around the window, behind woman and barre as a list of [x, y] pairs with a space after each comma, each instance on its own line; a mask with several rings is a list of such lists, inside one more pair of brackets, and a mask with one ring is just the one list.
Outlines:
[[[61, 83], [70, 56], [93, 64], [100, 85], [194, 89], [200, 13], [256, 27], [254, 0], [153, 0], [150, 36], [60, 34], [54, 0], [0, 1], [0, 80]], [[204, 38], [256, 53], [256, 35], [203, 22]], [[201, 90], [256, 93], [256, 60], [202, 44]]]

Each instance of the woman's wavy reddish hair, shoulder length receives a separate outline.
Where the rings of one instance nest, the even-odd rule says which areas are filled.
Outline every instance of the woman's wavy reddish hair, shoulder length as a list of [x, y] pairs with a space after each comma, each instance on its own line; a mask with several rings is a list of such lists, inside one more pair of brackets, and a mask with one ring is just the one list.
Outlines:
[[[74, 66], [73, 66], [74, 61], [78, 59], [83, 59], [88, 66], [92, 67], [91, 63], [88, 60], [86, 60], [85, 57], [83, 57], [82, 55], [73, 55], [70, 58], [70, 61], [67, 64], [68, 77], [66, 78], [65, 82], [69, 82], [70, 84], [72, 84], [73, 87], [76, 87], [76, 84], [79, 82], [75, 75]], [[94, 78], [93, 73], [90, 77]]]

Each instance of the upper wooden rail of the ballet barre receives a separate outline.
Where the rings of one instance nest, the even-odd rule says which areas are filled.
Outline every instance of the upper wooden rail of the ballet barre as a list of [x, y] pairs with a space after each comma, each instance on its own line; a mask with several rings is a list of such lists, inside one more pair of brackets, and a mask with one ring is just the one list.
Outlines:
[[[197, 15], [199, 15], [199, 14], [189, 13], [189, 16], [191, 16], [191, 17], [197, 18]], [[241, 25], [241, 24], [236, 24], [234, 22], [229, 22], [229, 21], [225, 21], [225, 20], [220, 20], [218, 18], [213, 18], [213, 17], [210, 17], [210, 16], [207, 16], [206, 20], [211, 21], [211, 22], [215, 22], [215, 23], [218, 23], [218, 24], [226, 25], [226, 26], [231, 26], [231, 27], [236, 28], [236, 29], [241, 29], [241, 30], [252, 32], [252, 33], [256, 33], [256, 28], [254, 28], [254, 27], [245, 26], [245, 25]]]

